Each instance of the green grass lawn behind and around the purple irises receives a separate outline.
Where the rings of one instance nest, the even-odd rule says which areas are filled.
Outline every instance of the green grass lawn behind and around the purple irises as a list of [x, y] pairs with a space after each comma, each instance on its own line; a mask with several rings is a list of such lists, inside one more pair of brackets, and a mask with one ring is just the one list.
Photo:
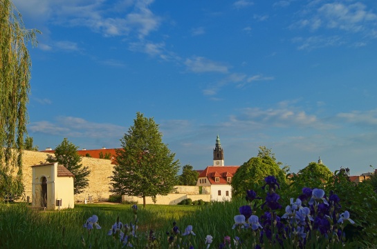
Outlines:
[[[160, 248], [167, 248], [166, 232], [172, 229], [172, 223], [183, 232], [192, 225], [196, 232], [195, 248], [205, 236], [223, 237], [225, 230], [231, 228], [232, 217], [237, 214], [237, 207], [229, 208], [230, 203], [214, 203], [209, 206], [162, 206], [147, 205], [138, 208], [138, 239], [136, 248], [145, 248], [149, 230], [154, 230]], [[236, 204], [237, 205], [237, 204]], [[228, 214], [227, 214], [228, 213]], [[101, 230], [93, 229], [89, 235], [83, 228], [86, 219], [98, 215]], [[0, 204], [0, 248], [84, 248], [92, 244], [95, 248], [121, 248], [107, 232], [116, 222], [134, 223], [131, 205], [82, 204], [73, 209], [61, 211], [35, 212], [22, 203]], [[63, 232], [64, 230], [64, 232]]]

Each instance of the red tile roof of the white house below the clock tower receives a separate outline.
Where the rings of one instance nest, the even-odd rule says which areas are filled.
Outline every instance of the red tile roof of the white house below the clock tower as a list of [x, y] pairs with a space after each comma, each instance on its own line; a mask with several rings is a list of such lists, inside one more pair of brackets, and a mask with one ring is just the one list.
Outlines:
[[[233, 177], [238, 168], [239, 166], [208, 166], [199, 177], [207, 177], [211, 184], [227, 184], [227, 177]], [[219, 177], [219, 181], [214, 181], [214, 177]]]

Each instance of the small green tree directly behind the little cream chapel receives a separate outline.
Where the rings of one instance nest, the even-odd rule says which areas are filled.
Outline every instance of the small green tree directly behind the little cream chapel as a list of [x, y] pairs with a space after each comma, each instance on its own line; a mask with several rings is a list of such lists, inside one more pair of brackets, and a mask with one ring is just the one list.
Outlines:
[[59, 163], [66, 167], [75, 175], [73, 179], [73, 186], [75, 188], [75, 195], [84, 192], [84, 188], [88, 186], [88, 176], [91, 173], [88, 166], [82, 166], [82, 158], [77, 153], [77, 146], [64, 138], [62, 143], [55, 148], [55, 157], [47, 156], [47, 161], [50, 163]]

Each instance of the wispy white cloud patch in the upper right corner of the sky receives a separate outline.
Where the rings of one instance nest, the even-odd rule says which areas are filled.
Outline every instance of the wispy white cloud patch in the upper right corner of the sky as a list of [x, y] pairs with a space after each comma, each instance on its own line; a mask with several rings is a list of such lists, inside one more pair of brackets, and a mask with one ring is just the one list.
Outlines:
[[[300, 38], [302, 45], [298, 47], [299, 50], [344, 44], [353, 44], [351, 46], [357, 48], [364, 46], [368, 39], [376, 39], [372, 34], [376, 27], [377, 14], [361, 2], [311, 1], [298, 12], [298, 16], [302, 18], [294, 21], [289, 28], [308, 29], [311, 32], [309, 37]], [[327, 37], [323, 30], [331, 30], [332, 34]], [[315, 35], [316, 32], [322, 34]], [[296, 42], [297, 38], [293, 41]]]

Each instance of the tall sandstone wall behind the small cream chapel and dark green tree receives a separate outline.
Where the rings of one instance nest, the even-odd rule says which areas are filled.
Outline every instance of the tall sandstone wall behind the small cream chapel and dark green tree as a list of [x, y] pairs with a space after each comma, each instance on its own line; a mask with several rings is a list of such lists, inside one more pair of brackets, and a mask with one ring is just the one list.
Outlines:
[[[25, 150], [23, 155], [23, 173], [25, 196], [32, 198], [32, 178], [33, 171], [30, 166], [44, 163], [48, 153]], [[76, 202], [83, 202], [84, 199], [92, 197], [92, 201], [106, 201], [112, 194], [110, 190], [110, 177], [113, 175], [113, 164], [109, 159], [95, 159], [91, 157], [82, 157], [83, 166], [88, 166], [91, 170], [89, 175], [89, 186], [81, 194], [75, 195]]]

